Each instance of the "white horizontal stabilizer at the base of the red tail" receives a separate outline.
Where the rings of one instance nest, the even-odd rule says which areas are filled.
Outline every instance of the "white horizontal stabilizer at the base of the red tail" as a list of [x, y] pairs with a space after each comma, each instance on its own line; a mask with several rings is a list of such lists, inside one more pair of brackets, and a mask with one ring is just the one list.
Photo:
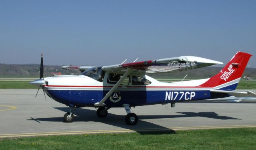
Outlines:
[[225, 91], [225, 90], [210, 90], [212, 93], [226, 93], [235, 97], [256, 97], [256, 94], [251, 91], [246, 92], [234, 92], [234, 91]]

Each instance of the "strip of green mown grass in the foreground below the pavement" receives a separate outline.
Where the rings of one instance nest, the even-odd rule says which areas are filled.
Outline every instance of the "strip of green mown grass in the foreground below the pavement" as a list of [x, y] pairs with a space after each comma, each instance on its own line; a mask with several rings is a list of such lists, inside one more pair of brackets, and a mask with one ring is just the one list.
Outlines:
[[256, 128], [86, 134], [0, 140], [1, 150], [255, 150]]

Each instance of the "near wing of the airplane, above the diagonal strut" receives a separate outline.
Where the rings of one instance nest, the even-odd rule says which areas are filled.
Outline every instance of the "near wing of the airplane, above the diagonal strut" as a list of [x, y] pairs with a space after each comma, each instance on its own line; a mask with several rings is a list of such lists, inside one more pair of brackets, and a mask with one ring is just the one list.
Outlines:
[[179, 72], [190, 69], [196, 69], [214, 64], [223, 64], [215, 60], [196, 56], [180, 56], [174, 58], [164, 58], [157, 60], [148, 60], [141, 62], [132, 62], [126, 64], [116, 64], [111, 66], [103, 66], [102, 70], [116, 73], [124, 73], [127, 68], [134, 69], [133, 72], [141, 74], [149, 73], [165, 73], [165, 72]]

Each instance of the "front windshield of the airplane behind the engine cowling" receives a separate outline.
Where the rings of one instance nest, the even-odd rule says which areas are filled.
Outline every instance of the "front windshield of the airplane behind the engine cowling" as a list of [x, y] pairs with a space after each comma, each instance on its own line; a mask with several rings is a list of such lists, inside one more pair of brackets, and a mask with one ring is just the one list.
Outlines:
[[101, 67], [102, 66], [92, 67], [90, 69], [85, 70], [80, 75], [88, 76], [90, 78], [93, 78], [94, 80], [102, 82], [105, 75], [105, 71], [103, 71]]

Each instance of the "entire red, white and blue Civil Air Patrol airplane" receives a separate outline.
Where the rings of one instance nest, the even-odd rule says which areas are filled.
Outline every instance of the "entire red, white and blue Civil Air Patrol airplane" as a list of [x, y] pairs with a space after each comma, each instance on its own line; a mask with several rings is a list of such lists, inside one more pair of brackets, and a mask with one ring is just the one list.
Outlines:
[[[127, 125], [136, 125], [138, 117], [130, 107], [154, 104], [214, 99], [229, 96], [256, 97], [256, 94], [235, 92], [236, 86], [252, 55], [238, 52], [215, 76], [181, 82], [159, 82], [146, 74], [185, 71], [222, 62], [195, 56], [180, 56], [112, 66], [63, 66], [76, 69], [78, 76], [43, 78], [41, 56], [40, 79], [30, 84], [40, 88], [52, 99], [70, 107], [64, 115], [65, 122], [72, 122], [75, 107], [98, 107], [98, 117], [106, 117], [108, 109], [124, 107]], [[38, 91], [37, 91], [38, 92]]]

